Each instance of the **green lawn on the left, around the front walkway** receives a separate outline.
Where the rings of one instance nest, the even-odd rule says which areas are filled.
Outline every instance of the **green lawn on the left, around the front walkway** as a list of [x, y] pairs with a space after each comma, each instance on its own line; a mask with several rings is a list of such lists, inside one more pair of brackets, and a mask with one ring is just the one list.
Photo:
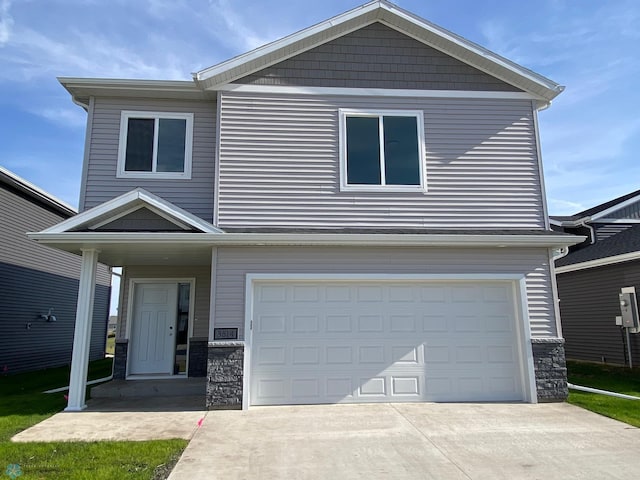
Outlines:
[[[111, 360], [92, 362], [89, 379], [111, 374]], [[44, 390], [68, 384], [69, 368], [0, 376], [0, 479], [7, 466], [19, 465], [27, 479], [163, 479], [187, 445], [186, 440], [151, 442], [12, 443], [16, 433], [34, 425], [66, 404], [66, 392]]]

